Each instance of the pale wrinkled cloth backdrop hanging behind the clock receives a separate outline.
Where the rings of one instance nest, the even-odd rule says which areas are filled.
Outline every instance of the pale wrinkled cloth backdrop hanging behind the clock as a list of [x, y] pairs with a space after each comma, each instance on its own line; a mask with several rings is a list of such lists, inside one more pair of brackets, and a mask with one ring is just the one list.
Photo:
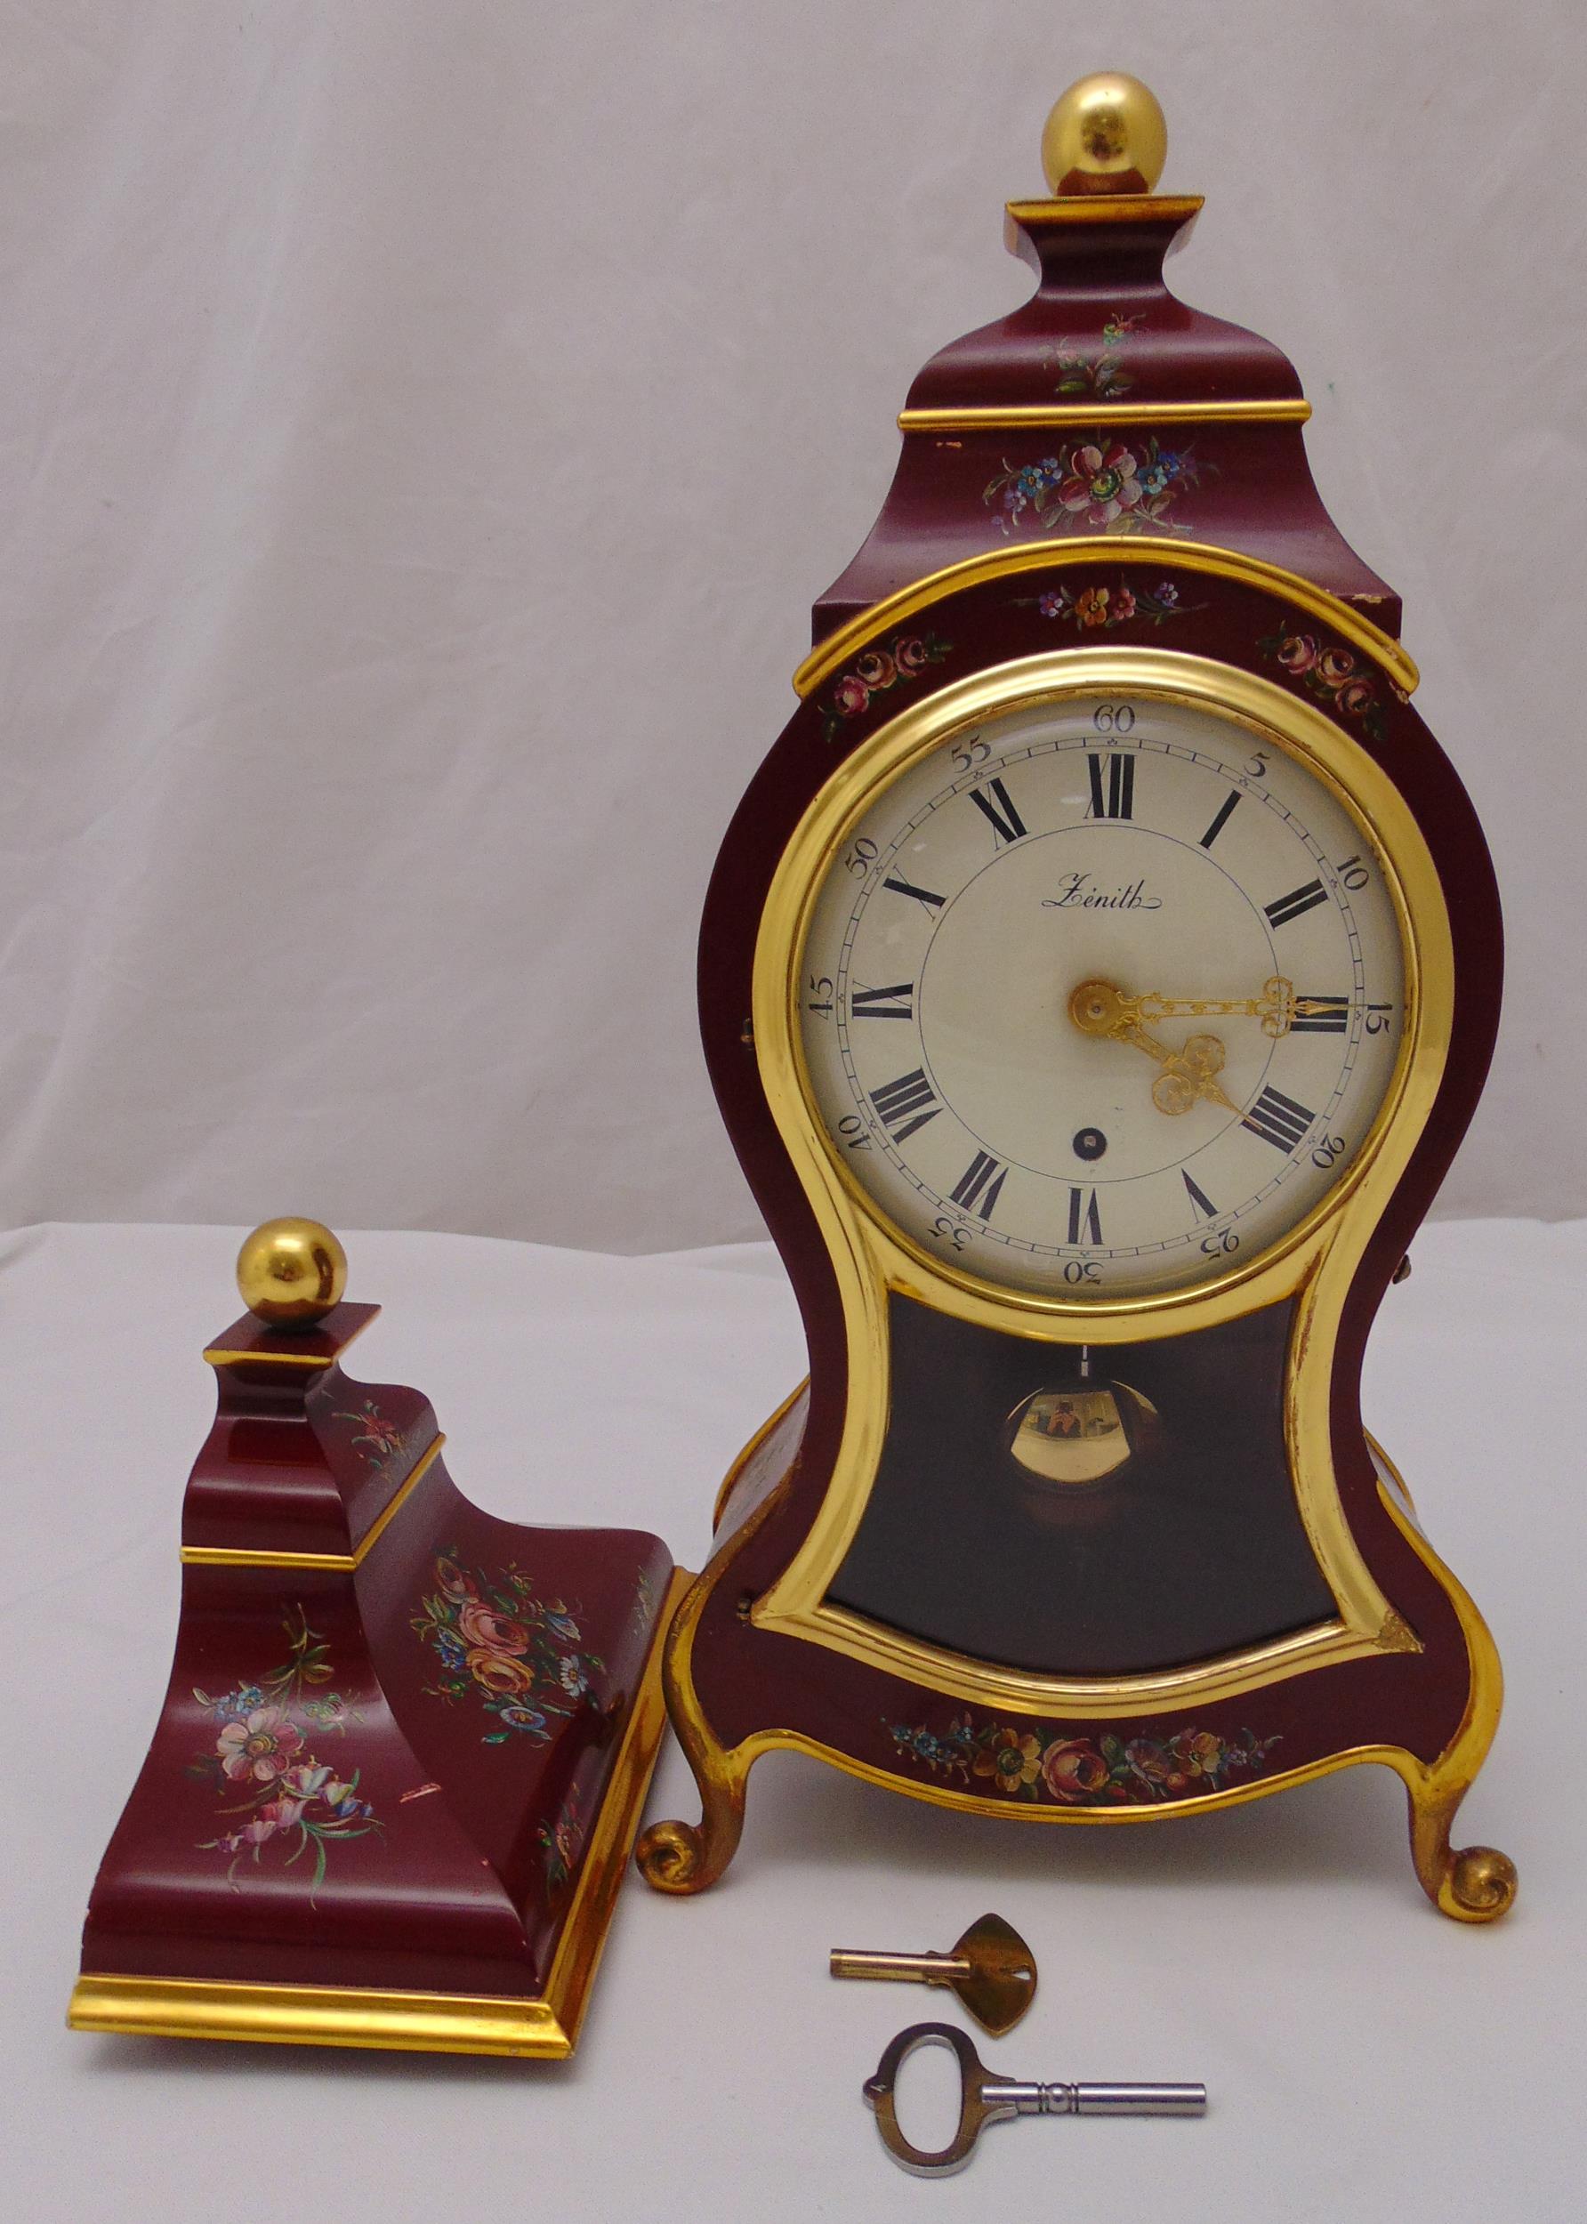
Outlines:
[[1587, 1208], [1578, 0], [7, 0], [0, 1223], [756, 1232], [709, 861], [1107, 62], [1491, 830], [1445, 1210]]

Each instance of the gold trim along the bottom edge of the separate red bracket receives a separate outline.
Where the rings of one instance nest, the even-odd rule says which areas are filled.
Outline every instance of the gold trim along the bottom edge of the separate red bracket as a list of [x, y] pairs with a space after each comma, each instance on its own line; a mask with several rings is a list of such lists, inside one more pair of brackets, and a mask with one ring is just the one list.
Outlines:
[[89, 1970], [71, 1988], [67, 2024], [73, 2031], [153, 2039], [260, 2039], [273, 2046], [382, 2046], [398, 2053], [529, 2059], [571, 2055], [667, 1726], [660, 1688], [662, 1644], [678, 1599], [691, 1581], [685, 1568], [676, 1568], [656, 1617], [645, 1679], [622, 1732], [540, 1997], [227, 1984], [211, 1977], [111, 1977]]

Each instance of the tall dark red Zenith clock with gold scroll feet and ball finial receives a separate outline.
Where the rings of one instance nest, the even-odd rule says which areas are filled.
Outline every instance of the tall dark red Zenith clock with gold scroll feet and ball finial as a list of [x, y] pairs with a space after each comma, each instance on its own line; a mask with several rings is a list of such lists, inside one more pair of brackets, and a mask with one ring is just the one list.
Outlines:
[[758, 1755], [1142, 1824], [1349, 1761], [1447, 1915], [1489, 1632], [1363, 1428], [1500, 992], [1400, 603], [1269, 342], [1182, 307], [1129, 78], [1054, 109], [1014, 316], [938, 354], [711, 881], [705, 1048], [809, 1381], [667, 1646], [711, 1884]]

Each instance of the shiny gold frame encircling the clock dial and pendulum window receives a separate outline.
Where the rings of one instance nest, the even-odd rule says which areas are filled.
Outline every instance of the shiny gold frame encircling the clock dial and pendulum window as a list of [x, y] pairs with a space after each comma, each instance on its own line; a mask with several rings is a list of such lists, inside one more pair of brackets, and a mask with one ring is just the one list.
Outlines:
[[[1236, 572], [1236, 565], [1229, 569]], [[1260, 585], [1271, 592], [1276, 574], [1271, 567], [1260, 569]], [[985, 563], [976, 572], [987, 576]], [[1300, 580], [1296, 587], [1302, 589], [1296, 600], [1314, 607], [1320, 589]], [[878, 627], [885, 623], [876, 612], [871, 618]], [[1354, 623], [1363, 625], [1360, 618]], [[945, 1268], [880, 1219], [880, 1208], [836, 1163], [816, 1112], [798, 1030], [798, 981], [809, 919], [827, 870], [860, 814], [891, 781], [965, 723], [1020, 703], [1098, 687], [1218, 709], [1298, 758], [1338, 796], [1385, 867], [1405, 952], [1405, 1025], [1396, 1070], [1367, 1141], [1336, 1188], [1289, 1234], [1234, 1272], [1187, 1290], [1076, 1303], [998, 1290]], [[758, 1626], [814, 1639], [960, 1699], [1058, 1719], [1207, 1704], [1325, 1661], [1403, 1646], [1403, 1626], [1396, 1626], [1398, 1617], [1374, 1581], [1338, 1501], [1329, 1383], [1354, 1270], [1438, 1094], [1454, 1019], [1454, 947], [1427, 843], [1400, 792], [1354, 736], [1258, 674], [1165, 649], [1056, 649], [951, 683], [860, 743], [811, 801], [767, 892], [751, 1005], [767, 1103], [831, 1252], [849, 1346], [849, 1401], [834, 1483], [789, 1568], [756, 1601], [751, 1612]], [[1151, 1328], [1180, 1334], [1294, 1297], [1298, 1314], [1285, 1381], [1285, 1441], [1300, 1517], [1334, 1590], [1338, 1619], [1169, 1672], [1065, 1679], [947, 1652], [827, 1606], [827, 1590], [858, 1528], [887, 1430], [887, 1297], [894, 1290], [1005, 1332], [1089, 1343], [1138, 1339]]]

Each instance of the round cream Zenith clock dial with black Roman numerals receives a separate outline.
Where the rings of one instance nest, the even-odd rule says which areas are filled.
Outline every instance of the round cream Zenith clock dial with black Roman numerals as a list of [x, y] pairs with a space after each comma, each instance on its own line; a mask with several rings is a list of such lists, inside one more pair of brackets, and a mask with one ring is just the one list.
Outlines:
[[887, 785], [800, 970], [829, 1145], [922, 1252], [1067, 1299], [1267, 1250], [1343, 1176], [1405, 1019], [1336, 792], [1147, 692], [1029, 703]]

